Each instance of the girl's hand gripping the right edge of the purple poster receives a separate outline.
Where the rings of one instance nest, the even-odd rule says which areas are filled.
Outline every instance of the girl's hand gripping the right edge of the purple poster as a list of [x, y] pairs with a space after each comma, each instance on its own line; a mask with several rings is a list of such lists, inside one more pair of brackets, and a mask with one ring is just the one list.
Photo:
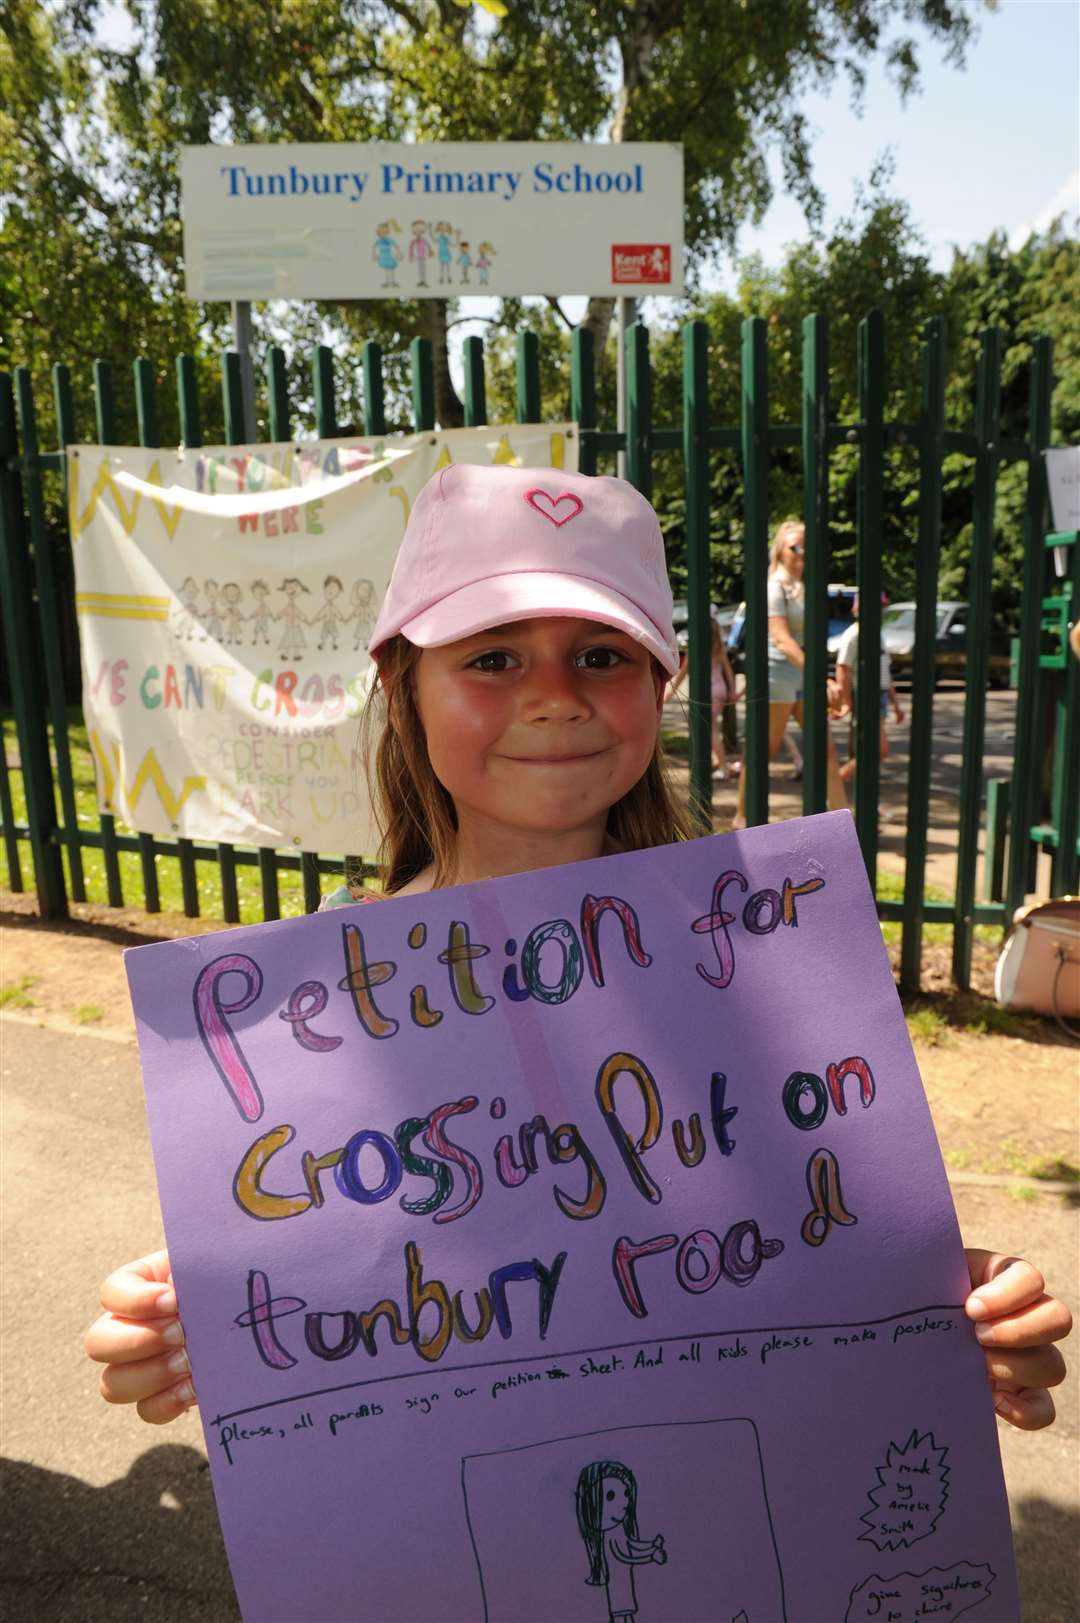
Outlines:
[[1065, 1380], [1056, 1341], [1072, 1329], [1064, 1302], [1046, 1294], [1038, 1268], [1018, 1256], [968, 1250], [971, 1295], [965, 1311], [986, 1354], [994, 1407], [1002, 1420], [1036, 1431], [1054, 1420], [1048, 1386]]

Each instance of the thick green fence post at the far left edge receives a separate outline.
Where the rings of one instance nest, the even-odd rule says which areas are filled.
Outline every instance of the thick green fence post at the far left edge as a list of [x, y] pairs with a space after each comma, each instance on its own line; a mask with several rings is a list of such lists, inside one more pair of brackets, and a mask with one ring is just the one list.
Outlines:
[[23, 514], [23, 485], [18, 472], [15, 398], [11, 377], [0, 372], [0, 604], [3, 639], [8, 649], [15, 730], [19, 742], [26, 821], [34, 860], [37, 912], [42, 919], [67, 919], [63, 860], [54, 844], [57, 803], [52, 792], [49, 732], [45, 712], [34, 698], [41, 688], [42, 665], [34, 635], [29, 545]]

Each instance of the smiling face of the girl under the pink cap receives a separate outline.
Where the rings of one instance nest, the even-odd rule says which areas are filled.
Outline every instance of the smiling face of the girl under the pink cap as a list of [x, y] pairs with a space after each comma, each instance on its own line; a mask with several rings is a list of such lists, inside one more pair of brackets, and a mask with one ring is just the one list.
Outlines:
[[663, 691], [648, 649], [590, 620], [520, 620], [426, 648], [416, 665], [461, 833], [591, 833], [598, 855], [607, 812], [653, 756]]

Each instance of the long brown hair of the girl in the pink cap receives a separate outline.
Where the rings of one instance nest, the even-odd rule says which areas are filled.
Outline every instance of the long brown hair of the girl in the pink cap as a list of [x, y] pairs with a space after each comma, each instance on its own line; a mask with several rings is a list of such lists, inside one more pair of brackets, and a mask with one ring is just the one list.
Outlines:
[[[378, 675], [361, 717], [361, 748], [382, 836], [378, 867], [388, 896], [429, 867], [435, 870], [435, 889], [451, 885], [455, 875], [458, 820], [427, 755], [416, 706], [419, 657], [421, 649], [404, 636], [378, 649]], [[646, 771], [607, 813], [607, 837], [619, 850], [690, 837], [685, 813], [671, 795], [659, 732]]]

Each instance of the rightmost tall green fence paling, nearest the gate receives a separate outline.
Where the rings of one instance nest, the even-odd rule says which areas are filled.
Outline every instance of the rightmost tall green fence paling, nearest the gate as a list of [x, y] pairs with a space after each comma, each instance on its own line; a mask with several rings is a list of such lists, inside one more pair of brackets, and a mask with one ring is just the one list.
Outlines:
[[1031, 404], [1028, 417], [1028, 490], [1023, 511], [1023, 584], [1020, 592], [1020, 672], [1017, 677], [1017, 721], [1012, 756], [1012, 807], [1009, 823], [1009, 883], [1005, 923], [1023, 904], [1031, 859], [1030, 829], [1039, 789], [1039, 639], [1046, 581], [1046, 466], [1043, 451], [1051, 443], [1051, 401], [1054, 396], [1054, 342], [1035, 339], [1031, 359]]

